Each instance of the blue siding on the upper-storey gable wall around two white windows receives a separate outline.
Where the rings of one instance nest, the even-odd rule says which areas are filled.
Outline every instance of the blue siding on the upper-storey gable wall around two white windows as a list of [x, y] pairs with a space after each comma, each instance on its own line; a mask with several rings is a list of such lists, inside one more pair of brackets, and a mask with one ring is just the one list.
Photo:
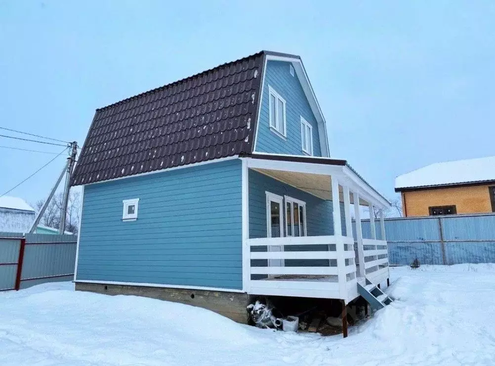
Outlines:
[[[297, 75], [289, 72], [289, 62], [268, 61], [265, 84], [258, 120], [257, 152], [304, 155], [301, 147], [302, 116], [313, 127], [313, 155], [321, 156], [318, 124], [311, 111], [306, 95]], [[270, 130], [268, 117], [268, 86], [286, 100], [287, 138], [284, 139]]]

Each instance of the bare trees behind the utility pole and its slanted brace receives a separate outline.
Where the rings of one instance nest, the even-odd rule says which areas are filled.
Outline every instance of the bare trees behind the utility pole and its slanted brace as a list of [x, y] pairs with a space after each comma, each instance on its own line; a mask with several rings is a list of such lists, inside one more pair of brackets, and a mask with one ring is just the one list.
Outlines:
[[[45, 213], [43, 214], [40, 224], [49, 228], [58, 229], [60, 227], [60, 214], [62, 210], [63, 192], [56, 193], [51, 199]], [[36, 202], [36, 210], [39, 211], [44, 200]], [[65, 231], [77, 234], [79, 230], [79, 211], [81, 208], [81, 192], [71, 190], [67, 202], [67, 217], [65, 220]]]

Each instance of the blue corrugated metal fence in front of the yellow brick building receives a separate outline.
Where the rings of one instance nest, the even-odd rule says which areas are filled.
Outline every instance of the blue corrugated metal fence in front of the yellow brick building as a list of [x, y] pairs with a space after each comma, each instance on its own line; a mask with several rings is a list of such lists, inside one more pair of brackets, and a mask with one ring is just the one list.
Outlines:
[[[361, 222], [370, 238], [370, 222]], [[375, 222], [381, 239], [379, 222]], [[355, 232], [355, 225], [353, 224]], [[495, 263], [495, 214], [385, 219], [389, 263], [421, 264]]]

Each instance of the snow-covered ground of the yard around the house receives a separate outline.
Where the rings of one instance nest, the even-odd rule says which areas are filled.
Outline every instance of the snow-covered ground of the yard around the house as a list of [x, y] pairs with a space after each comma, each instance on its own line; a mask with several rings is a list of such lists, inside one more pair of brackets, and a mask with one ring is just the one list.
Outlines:
[[342, 335], [54, 283], [0, 293], [0, 365], [494, 365], [495, 265], [391, 269], [397, 301]]

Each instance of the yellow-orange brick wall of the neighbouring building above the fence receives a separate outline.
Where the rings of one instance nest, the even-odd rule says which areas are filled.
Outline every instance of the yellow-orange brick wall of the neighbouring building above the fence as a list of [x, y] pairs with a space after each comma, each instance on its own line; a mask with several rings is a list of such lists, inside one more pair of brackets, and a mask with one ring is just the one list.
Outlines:
[[490, 185], [423, 189], [402, 192], [402, 213], [406, 217], [429, 216], [431, 206], [455, 205], [457, 214], [492, 212]]

